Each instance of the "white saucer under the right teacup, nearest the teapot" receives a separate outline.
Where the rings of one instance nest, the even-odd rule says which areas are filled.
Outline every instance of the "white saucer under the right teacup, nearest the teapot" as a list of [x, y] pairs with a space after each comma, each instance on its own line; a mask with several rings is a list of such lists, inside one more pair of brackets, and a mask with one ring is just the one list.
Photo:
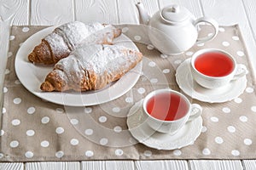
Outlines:
[[189, 63], [190, 59], [186, 59], [177, 67], [176, 81], [179, 88], [193, 99], [209, 103], [222, 103], [236, 99], [247, 87], [247, 77], [244, 76], [236, 81], [231, 81], [228, 85], [221, 88], [203, 88], [194, 81]]

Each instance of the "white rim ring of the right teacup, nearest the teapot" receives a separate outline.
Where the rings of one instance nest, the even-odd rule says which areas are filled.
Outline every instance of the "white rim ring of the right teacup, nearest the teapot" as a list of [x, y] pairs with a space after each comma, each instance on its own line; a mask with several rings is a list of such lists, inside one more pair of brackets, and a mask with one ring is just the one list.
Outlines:
[[[195, 59], [201, 55], [201, 54], [205, 54], [205, 53], [210, 53], [210, 52], [217, 52], [217, 53], [221, 53], [221, 54], [225, 54], [227, 55], [230, 59], [232, 59], [233, 61], [233, 64], [234, 64], [234, 67], [233, 67], [233, 70], [230, 72], [230, 74], [226, 75], [226, 76], [223, 76], [223, 77], [211, 77], [211, 76], [207, 76], [203, 73], [201, 73], [200, 71], [198, 71], [196, 68], [195, 68]], [[233, 55], [231, 55], [230, 53], [228, 53], [227, 51], [225, 51], [224, 49], [220, 49], [220, 48], [203, 48], [203, 49], [200, 49], [198, 51], [195, 52], [195, 54], [192, 55], [191, 59], [190, 59], [190, 65], [193, 69], [193, 71], [195, 71], [196, 73], [198, 73], [199, 75], [203, 76], [203, 77], [207, 77], [207, 78], [211, 78], [211, 79], [224, 79], [226, 77], [230, 77], [235, 71], [236, 71], [236, 66], [237, 66], [237, 63], [236, 63], [236, 59], [233, 57]]]

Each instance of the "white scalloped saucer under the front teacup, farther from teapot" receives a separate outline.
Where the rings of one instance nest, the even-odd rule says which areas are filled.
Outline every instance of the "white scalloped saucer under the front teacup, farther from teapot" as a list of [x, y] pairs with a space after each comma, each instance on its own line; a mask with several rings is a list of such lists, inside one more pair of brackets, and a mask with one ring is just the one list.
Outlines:
[[201, 134], [202, 118], [187, 122], [176, 134], [158, 133], [146, 123], [143, 113], [143, 99], [135, 104], [127, 117], [127, 126], [131, 135], [140, 143], [157, 150], [175, 150], [189, 144]]

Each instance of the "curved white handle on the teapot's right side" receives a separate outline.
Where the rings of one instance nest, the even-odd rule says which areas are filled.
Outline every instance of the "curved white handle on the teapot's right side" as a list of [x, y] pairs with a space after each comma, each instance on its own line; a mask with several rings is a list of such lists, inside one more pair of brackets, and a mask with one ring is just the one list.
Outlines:
[[218, 34], [218, 22], [216, 20], [213, 20], [212, 18], [209, 18], [209, 17], [201, 17], [201, 18], [195, 20], [194, 25], [196, 26], [202, 22], [206, 22], [206, 23], [210, 24], [213, 27], [214, 32], [212, 33], [211, 36], [197, 38], [196, 44], [212, 40]]

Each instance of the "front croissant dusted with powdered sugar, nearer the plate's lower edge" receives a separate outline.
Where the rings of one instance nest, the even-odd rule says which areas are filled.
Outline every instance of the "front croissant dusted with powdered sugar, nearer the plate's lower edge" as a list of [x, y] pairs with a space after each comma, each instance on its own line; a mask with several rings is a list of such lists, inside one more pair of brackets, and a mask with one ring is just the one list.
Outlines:
[[41, 90], [83, 92], [119, 80], [143, 59], [143, 54], [119, 45], [83, 45], [55, 64]]

